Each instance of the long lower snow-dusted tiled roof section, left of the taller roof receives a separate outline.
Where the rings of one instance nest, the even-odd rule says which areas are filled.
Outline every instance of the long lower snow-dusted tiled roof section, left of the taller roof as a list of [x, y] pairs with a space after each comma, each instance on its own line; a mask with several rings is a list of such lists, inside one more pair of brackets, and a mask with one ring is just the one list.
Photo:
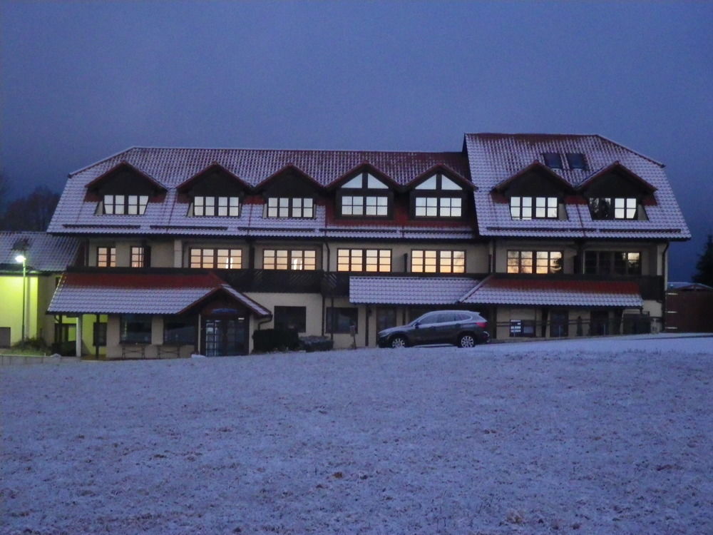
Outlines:
[[[310, 219], [266, 218], [262, 204], [245, 203], [240, 217], [191, 217], [189, 204], [180, 203], [178, 187], [201, 171], [220, 165], [251, 188], [284, 169], [296, 169], [315, 185], [327, 187], [368, 163], [391, 183], [406, 186], [429, 170], [451, 170], [469, 180], [468, 162], [461, 152], [279, 151], [256, 149], [135, 147], [72, 173], [48, 227], [52, 233], [173, 234], [294, 238], [420, 238], [419, 232], [446, 227], [446, 238], [472, 238], [472, 222], [443, 225], [396, 221], [335, 222], [317, 205]], [[143, 215], [97, 215], [96, 198], [86, 186], [108, 171], [128, 164], [165, 188], [161, 202], [150, 202]], [[435, 172], [435, 171], [434, 171]], [[411, 231], [416, 234], [411, 236]], [[386, 233], [386, 235], [382, 235]]]

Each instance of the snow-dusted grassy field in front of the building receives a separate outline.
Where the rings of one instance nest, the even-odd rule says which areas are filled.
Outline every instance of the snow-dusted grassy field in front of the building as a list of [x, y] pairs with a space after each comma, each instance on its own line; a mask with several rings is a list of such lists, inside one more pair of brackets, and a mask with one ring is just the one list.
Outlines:
[[3, 534], [710, 534], [713, 338], [0, 369]]

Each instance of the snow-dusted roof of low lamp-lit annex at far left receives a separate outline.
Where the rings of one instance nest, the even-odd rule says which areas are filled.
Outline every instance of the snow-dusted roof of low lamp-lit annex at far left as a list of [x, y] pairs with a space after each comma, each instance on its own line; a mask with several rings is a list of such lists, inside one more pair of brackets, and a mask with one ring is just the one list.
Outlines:
[[0, 232], [0, 266], [17, 269], [15, 257], [27, 258], [28, 270], [61, 272], [76, 257], [79, 240], [69, 236], [53, 236], [43, 232]]

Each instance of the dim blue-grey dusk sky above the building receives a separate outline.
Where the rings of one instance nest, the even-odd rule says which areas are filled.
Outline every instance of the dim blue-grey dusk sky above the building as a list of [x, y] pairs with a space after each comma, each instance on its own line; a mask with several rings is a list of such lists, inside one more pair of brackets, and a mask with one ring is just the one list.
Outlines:
[[713, 232], [713, 2], [0, 0], [12, 195], [130, 146], [459, 151], [600, 133], [667, 165]]

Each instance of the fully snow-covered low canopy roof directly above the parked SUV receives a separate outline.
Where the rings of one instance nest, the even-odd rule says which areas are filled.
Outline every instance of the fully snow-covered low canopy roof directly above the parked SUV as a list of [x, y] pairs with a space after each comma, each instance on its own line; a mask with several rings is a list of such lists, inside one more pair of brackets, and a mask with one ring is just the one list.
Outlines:
[[349, 277], [349, 302], [451, 305], [477, 283], [468, 277]]

